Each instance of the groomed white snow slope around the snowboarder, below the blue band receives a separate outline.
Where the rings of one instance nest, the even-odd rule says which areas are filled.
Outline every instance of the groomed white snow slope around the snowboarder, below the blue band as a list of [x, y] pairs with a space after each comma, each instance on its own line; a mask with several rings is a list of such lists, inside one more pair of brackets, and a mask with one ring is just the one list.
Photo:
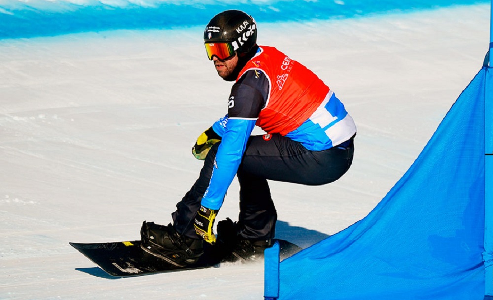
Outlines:
[[[258, 27], [358, 126], [341, 180], [271, 182], [277, 237], [308, 247], [363, 218], [412, 164], [481, 68], [489, 5]], [[137, 240], [143, 220], [171, 220], [201, 168], [190, 148], [231, 87], [202, 31], [0, 41], [0, 299], [262, 299], [262, 263], [111, 279], [68, 244]], [[237, 214], [234, 181], [218, 219]]]

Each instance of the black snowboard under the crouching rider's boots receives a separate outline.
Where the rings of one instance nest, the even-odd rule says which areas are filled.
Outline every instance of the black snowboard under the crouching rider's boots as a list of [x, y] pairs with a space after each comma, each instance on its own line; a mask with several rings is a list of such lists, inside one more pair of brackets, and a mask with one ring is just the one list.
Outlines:
[[[280, 258], [287, 258], [301, 250], [297, 245], [286, 240], [279, 242]], [[204, 243], [204, 254], [199, 260], [185, 267], [177, 267], [156, 257], [141, 248], [140, 240], [107, 243], [69, 243], [84, 254], [102, 270], [114, 277], [132, 277], [155, 273], [176, 272], [200, 268], [210, 268], [223, 262], [238, 260], [228, 253], [221, 244]]]

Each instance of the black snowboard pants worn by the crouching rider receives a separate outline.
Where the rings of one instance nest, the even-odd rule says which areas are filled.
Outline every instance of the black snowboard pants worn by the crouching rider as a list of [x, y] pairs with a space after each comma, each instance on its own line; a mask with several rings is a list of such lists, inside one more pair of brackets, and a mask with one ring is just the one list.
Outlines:
[[[246, 239], [273, 238], [277, 213], [267, 180], [322, 185], [339, 179], [352, 164], [353, 139], [323, 151], [307, 150], [301, 143], [279, 134], [251, 136], [237, 177], [240, 183], [240, 235]], [[199, 178], [172, 214], [176, 230], [196, 238], [195, 214], [211, 179], [219, 143], [209, 151]]]

